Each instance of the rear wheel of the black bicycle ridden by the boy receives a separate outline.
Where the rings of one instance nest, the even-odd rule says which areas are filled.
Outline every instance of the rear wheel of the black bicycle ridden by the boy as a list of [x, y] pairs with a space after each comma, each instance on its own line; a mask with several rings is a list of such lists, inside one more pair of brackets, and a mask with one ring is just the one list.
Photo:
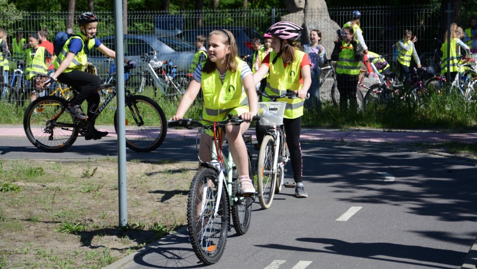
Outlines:
[[37, 98], [27, 107], [23, 128], [28, 140], [38, 149], [62, 152], [78, 138], [75, 117], [64, 112], [64, 103], [65, 99], [48, 95]]

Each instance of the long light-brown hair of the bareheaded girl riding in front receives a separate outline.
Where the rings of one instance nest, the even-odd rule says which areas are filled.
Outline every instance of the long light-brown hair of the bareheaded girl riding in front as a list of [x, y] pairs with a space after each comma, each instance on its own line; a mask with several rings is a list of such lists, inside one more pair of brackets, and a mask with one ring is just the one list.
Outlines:
[[[209, 36], [207, 37], [207, 46], [210, 46], [209, 38], [212, 35], [220, 35], [222, 36], [222, 43], [226, 46], [230, 46], [230, 52], [229, 54], [225, 55], [226, 62], [227, 62], [227, 69], [230, 70], [231, 72], [237, 71], [237, 55], [239, 55], [239, 49], [237, 48], [237, 41], [235, 41], [234, 35], [229, 31], [225, 29], [220, 29], [220, 30], [213, 30], [210, 32]], [[210, 74], [214, 72], [217, 69], [217, 66], [214, 62], [210, 60], [209, 57], [207, 57], [207, 60], [204, 64], [204, 68], [202, 71], [204, 71], [207, 74]]]

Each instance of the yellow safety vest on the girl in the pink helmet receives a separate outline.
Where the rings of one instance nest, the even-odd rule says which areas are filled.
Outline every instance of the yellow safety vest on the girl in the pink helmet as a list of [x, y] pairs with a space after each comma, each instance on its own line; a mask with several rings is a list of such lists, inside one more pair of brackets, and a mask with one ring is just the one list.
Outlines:
[[[298, 49], [295, 50], [295, 62], [283, 66], [282, 57], [278, 57], [275, 64], [272, 64], [271, 59], [275, 59], [277, 54], [270, 52], [270, 75], [267, 79], [265, 92], [268, 95], [282, 95], [287, 90], [301, 90], [303, 85], [300, 84], [300, 65], [303, 60], [305, 52]], [[268, 98], [263, 97], [264, 101]], [[305, 101], [301, 98], [280, 98], [277, 101], [286, 102], [284, 118], [295, 119], [303, 115], [303, 104]]]

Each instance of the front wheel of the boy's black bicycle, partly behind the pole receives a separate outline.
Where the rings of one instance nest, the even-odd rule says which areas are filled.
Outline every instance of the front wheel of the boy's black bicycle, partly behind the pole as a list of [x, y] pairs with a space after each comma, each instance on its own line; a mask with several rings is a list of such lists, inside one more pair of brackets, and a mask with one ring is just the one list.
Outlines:
[[[128, 104], [128, 99], [130, 104]], [[167, 122], [159, 104], [143, 95], [126, 96], [126, 146], [136, 152], [157, 149], [167, 134]], [[114, 116], [118, 132], [118, 111]]]

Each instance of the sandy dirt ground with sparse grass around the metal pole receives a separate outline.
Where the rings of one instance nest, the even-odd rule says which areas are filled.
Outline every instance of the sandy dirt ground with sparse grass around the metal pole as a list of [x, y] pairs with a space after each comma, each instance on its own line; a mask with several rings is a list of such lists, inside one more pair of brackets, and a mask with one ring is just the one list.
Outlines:
[[[442, 145], [360, 146], [477, 159]], [[128, 225], [119, 228], [117, 160], [0, 159], [0, 269], [102, 268], [141, 249], [186, 224], [196, 169], [127, 162]]]

